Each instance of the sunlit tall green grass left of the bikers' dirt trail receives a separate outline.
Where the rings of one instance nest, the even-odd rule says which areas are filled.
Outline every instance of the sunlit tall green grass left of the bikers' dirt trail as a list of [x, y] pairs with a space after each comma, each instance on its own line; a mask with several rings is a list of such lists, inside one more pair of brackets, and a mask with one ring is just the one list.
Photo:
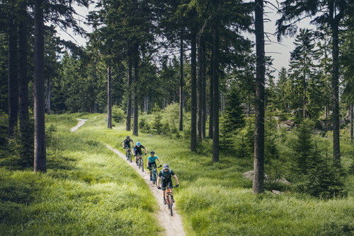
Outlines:
[[1, 167], [0, 235], [159, 233], [147, 184], [92, 134], [70, 133], [76, 117], [47, 117], [62, 149], [59, 156], [48, 155], [47, 174]]

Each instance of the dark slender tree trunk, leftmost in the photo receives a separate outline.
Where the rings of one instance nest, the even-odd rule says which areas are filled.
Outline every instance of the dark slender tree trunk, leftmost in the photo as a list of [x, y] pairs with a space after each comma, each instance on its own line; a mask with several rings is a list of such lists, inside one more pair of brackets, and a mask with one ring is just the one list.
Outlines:
[[8, 136], [17, 127], [18, 116], [18, 49], [17, 25], [14, 19], [8, 20]]

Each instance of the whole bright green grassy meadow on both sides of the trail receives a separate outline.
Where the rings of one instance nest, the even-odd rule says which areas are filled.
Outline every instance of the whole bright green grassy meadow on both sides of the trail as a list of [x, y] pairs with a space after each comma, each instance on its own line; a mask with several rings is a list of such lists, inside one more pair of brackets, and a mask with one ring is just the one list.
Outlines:
[[[76, 118], [89, 120], [71, 133]], [[51, 125], [47, 174], [17, 167], [13, 155], [0, 159], [0, 235], [164, 234], [147, 184], [105, 147], [123, 152], [122, 141], [132, 135], [124, 124], [107, 129], [103, 114], [62, 114], [46, 117]], [[176, 208], [187, 235], [354, 235], [353, 176], [343, 198], [319, 199], [291, 187], [256, 196], [242, 176], [252, 160], [230, 153], [212, 163], [210, 141], [191, 153], [188, 140], [175, 136], [139, 131], [132, 139], [176, 172]], [[350, 165], [349, 157], [343, 163]]]

